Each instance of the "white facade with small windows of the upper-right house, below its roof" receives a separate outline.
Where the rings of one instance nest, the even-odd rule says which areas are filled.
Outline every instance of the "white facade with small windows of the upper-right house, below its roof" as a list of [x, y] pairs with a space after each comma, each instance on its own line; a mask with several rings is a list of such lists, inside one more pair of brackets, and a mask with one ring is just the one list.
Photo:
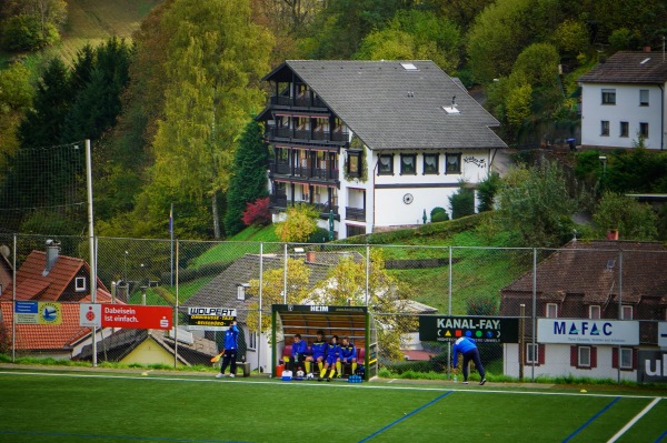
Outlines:
[[665, 149], [666, 85], [583, 83], [581, 145], [634, 148], [644, 132], [647, 149]]

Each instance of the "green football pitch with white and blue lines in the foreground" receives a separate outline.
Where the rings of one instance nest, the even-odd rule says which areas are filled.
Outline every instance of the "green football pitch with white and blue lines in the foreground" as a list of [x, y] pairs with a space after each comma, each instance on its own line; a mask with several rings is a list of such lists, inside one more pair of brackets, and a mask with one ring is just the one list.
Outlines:
[[666, 391], [0, 370], [0, 442], [667, 442]]

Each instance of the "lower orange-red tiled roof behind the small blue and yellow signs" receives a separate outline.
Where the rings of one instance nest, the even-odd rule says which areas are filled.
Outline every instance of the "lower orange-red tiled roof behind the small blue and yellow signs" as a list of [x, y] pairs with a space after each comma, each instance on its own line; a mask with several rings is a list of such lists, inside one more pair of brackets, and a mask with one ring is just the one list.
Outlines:
[[[0, 302], [1, 325], [11, 340], [12, 302]], [[17, 324], [18, 350], [63, 350], [90, 333], [90, 328], [79, 325], [79, 303], [61, 303], [62, 322], [59, 325]]]

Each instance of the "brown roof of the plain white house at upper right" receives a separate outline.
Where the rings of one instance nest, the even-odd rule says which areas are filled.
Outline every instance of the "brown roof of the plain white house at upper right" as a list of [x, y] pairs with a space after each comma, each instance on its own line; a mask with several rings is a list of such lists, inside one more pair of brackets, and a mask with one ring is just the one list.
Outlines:
[[667, 61], [657, 52], [616, 52], [604, 63], [579, 77], [584, 83], [659, 83], [667, 82]]

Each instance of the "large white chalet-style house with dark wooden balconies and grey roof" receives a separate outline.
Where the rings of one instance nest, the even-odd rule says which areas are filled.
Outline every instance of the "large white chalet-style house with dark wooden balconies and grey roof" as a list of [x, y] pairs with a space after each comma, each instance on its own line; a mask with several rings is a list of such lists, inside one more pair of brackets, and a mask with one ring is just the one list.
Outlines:
[[424, 223], [505, 142], [498, 121], [431, 61], [288, 60], [265, 77], [271, 208], [308, 202], [338, 239]]

